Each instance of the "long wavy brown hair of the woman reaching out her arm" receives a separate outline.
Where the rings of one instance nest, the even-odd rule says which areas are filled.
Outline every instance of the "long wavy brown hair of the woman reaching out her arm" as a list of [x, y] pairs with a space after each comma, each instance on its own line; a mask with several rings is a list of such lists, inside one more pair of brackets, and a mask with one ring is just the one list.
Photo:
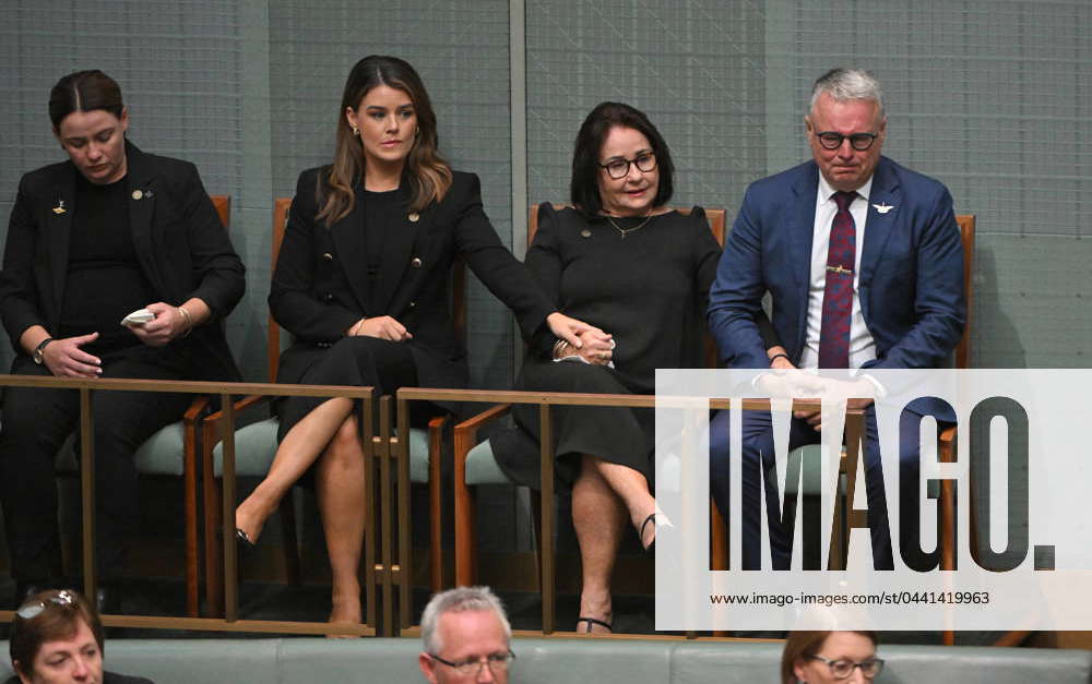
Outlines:
[[410, 208], [420, 212], [431, 202], [439, 202], [451, 188], [451, 167], [437, 147], [436, 112], [428, 98], [428, 91], [420, 76], [405, 60], [396, 57], [369, 55], [353, 67], [345, 81], [341, 109], [337, 110], [337, 136], [334, 161], [330, 170], [320, 175], [316, 193], [319, 220], [327, 226], [337, 223], [353, 211], [356, 203], [354, 188], [364, 182], [364, 151], [360, 139], [345, 119], [345, 110], [356, 109], [368, 92], [379, 85], [402, 91], [410, 96], [417, 115], [417, 139], [410, 149], [403, 170], [410, 181]]

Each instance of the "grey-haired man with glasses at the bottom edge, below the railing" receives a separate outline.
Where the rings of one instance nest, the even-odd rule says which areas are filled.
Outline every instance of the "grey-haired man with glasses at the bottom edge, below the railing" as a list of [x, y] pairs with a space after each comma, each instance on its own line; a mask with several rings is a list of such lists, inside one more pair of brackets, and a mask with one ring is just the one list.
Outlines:
[[508, 682], [515, 658], [512, 627], [500, 599], [488, 587], [459, 587], [437, 593], [420, 616], [420, 671], [432, 684]]

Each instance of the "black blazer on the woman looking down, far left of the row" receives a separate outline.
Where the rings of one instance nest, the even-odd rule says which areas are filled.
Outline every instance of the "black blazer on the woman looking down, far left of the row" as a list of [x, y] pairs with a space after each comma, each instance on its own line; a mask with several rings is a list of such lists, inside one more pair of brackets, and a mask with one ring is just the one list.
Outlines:
[[[152, 291], [174, 305], [198, 297], [212, 311], [212, 321], [193, 331], [201, 359], [194, 379], [239, 380], [223, 320], [242, 297], [246, 269], [197, 167], [144, 154], [128, 142], [126, 155], [129, 196], [141, 191], [140, 200], [129, 201], [129, 225]], [[26, 355], [19, 339], [32, 325], [59, 329], [79, 172], [62, 161], [20, 180], [0, 272], [0, 319], [17, 355]], [[68, 211], [54, 212], [62, 201]]]

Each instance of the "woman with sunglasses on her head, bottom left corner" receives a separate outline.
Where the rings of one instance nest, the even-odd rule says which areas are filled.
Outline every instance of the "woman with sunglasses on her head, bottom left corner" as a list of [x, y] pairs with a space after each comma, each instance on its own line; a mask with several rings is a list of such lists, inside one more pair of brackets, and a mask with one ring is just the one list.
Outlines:
[[76, 591], [35, 593], [11, 623], [11, 664], [4, 684], [152, 684], [103, 672], [103, 623]]

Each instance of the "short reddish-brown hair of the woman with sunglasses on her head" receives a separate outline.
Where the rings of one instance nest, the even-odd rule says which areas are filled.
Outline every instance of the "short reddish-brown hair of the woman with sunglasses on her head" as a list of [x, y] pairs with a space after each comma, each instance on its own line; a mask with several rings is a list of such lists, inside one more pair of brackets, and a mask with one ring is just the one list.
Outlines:
[[24, 675], [34, 670], [34, 659], [46, 641], [70, 639], [75, 636], [82, 621], [95, 635], [99, 652], [103, 652], [103, 623], [94, 605], [74, 589], [50, 589], [26, 599], [20, 611], [39, 604], [41, 611], [31, 617], [15, 613], [11, 622], [9, 652], [12, 667]]

